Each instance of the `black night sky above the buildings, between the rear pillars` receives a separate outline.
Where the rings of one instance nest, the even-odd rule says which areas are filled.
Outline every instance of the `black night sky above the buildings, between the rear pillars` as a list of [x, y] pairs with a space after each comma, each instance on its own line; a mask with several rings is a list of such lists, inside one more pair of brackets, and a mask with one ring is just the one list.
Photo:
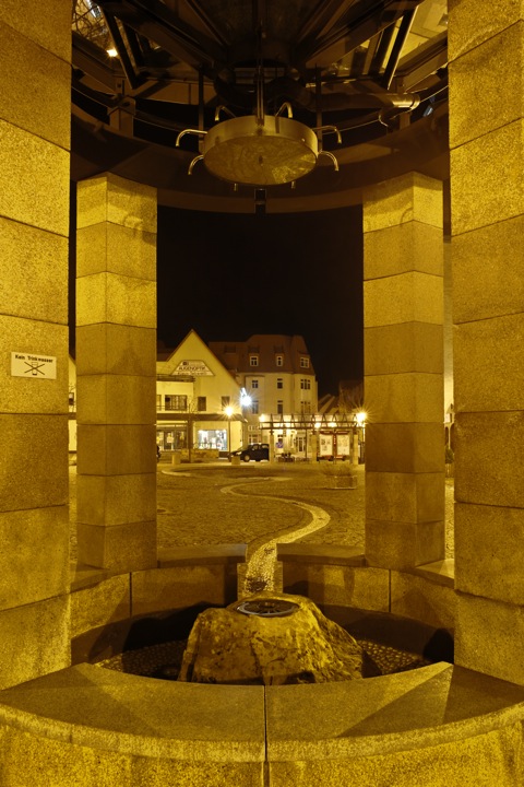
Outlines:
[[288, 214], [158, 207], [158, 339], [301, 334], [319, 396], [362, 376], [360, 208]]

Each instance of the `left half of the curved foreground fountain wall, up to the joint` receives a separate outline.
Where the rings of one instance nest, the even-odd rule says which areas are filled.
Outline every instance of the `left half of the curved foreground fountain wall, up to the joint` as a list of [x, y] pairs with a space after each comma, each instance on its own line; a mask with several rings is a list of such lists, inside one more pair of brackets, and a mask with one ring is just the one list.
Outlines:
[[2, 787], [263, 784], [262, 686], [202, 691], [82, 663], [3, 692], [0, 714]]

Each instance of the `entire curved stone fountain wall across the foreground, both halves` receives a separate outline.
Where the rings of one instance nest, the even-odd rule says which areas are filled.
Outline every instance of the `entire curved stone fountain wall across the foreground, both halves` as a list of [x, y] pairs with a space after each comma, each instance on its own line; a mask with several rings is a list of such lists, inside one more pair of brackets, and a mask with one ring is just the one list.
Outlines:
[[84, 663], [0, 693], [2, 787], [516, 787], [523, 721], [523, 688], [444, 662], [289, 686]]

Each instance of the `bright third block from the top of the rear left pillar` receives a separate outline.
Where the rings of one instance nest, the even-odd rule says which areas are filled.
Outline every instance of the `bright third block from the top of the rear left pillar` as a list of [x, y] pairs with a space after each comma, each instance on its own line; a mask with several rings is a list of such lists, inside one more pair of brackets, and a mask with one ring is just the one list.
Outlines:
[[156, 283], [116, 273], [76, 280], [76, 325], [114, 322], [156, 328]]

